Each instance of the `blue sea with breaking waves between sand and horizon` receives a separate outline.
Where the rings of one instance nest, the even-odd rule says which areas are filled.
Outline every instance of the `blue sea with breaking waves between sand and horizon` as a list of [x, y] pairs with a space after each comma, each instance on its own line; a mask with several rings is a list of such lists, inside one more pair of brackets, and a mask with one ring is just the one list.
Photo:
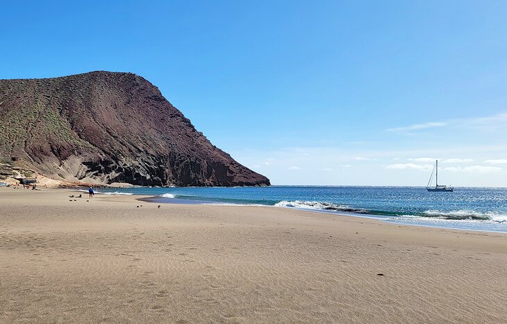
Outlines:
[[204, 188], [122, 188], [99, 193], [158, 197], [214, 204], [257, 204], [373, 217], [410, 225], [507, 232], [507, 188], [270, 186]]

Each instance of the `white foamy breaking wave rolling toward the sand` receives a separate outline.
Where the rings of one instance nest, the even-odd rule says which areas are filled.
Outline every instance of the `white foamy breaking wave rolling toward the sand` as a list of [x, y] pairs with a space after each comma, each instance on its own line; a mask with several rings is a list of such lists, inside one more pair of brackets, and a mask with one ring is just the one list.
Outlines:
[[281, 201], [274, 206], [291, 207], [297, 209], [312, 209], [316, 211], [337, 211], [346, 213], [362, 213], [370, 216], [391, 216], [391, 217], [421, 217], [421, 218], [440, 218], [444, 220], [490, 220], [493, 222], [507, 223], [506, 213], [481, 212], [466, 209], [457, 211], [439, 211], [431, 209], [420, 213], [400, 213], [397, 211], [378, 211], [368, 209], [358, 209], [342, 204], [331, 204], [329, 202], [308, 202], [301, 200]]

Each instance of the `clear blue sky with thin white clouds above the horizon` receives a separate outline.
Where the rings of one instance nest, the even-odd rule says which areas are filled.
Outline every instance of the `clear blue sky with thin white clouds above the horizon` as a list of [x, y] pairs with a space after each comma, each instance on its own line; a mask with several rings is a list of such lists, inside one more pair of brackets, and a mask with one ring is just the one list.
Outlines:
[[0, 79], [133, 72], [272, 184], [507, 186], [507, 1], [2, 1]]

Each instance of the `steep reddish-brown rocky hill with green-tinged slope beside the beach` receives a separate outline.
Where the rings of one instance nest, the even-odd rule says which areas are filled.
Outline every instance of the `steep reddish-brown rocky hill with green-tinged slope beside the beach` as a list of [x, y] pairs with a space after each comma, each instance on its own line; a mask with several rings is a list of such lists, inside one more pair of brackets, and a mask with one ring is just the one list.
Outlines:
[[0, 156], [67, 181], [269, 185], [131, 73], [0, 80]]

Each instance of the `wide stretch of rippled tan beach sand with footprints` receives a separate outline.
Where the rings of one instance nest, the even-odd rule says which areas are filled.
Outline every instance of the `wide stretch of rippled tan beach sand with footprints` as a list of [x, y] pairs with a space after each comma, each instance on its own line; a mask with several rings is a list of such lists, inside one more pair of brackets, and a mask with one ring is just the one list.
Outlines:
[[0, 188], [0, 322], [507, 321], [506, 234], [70, 194]]

